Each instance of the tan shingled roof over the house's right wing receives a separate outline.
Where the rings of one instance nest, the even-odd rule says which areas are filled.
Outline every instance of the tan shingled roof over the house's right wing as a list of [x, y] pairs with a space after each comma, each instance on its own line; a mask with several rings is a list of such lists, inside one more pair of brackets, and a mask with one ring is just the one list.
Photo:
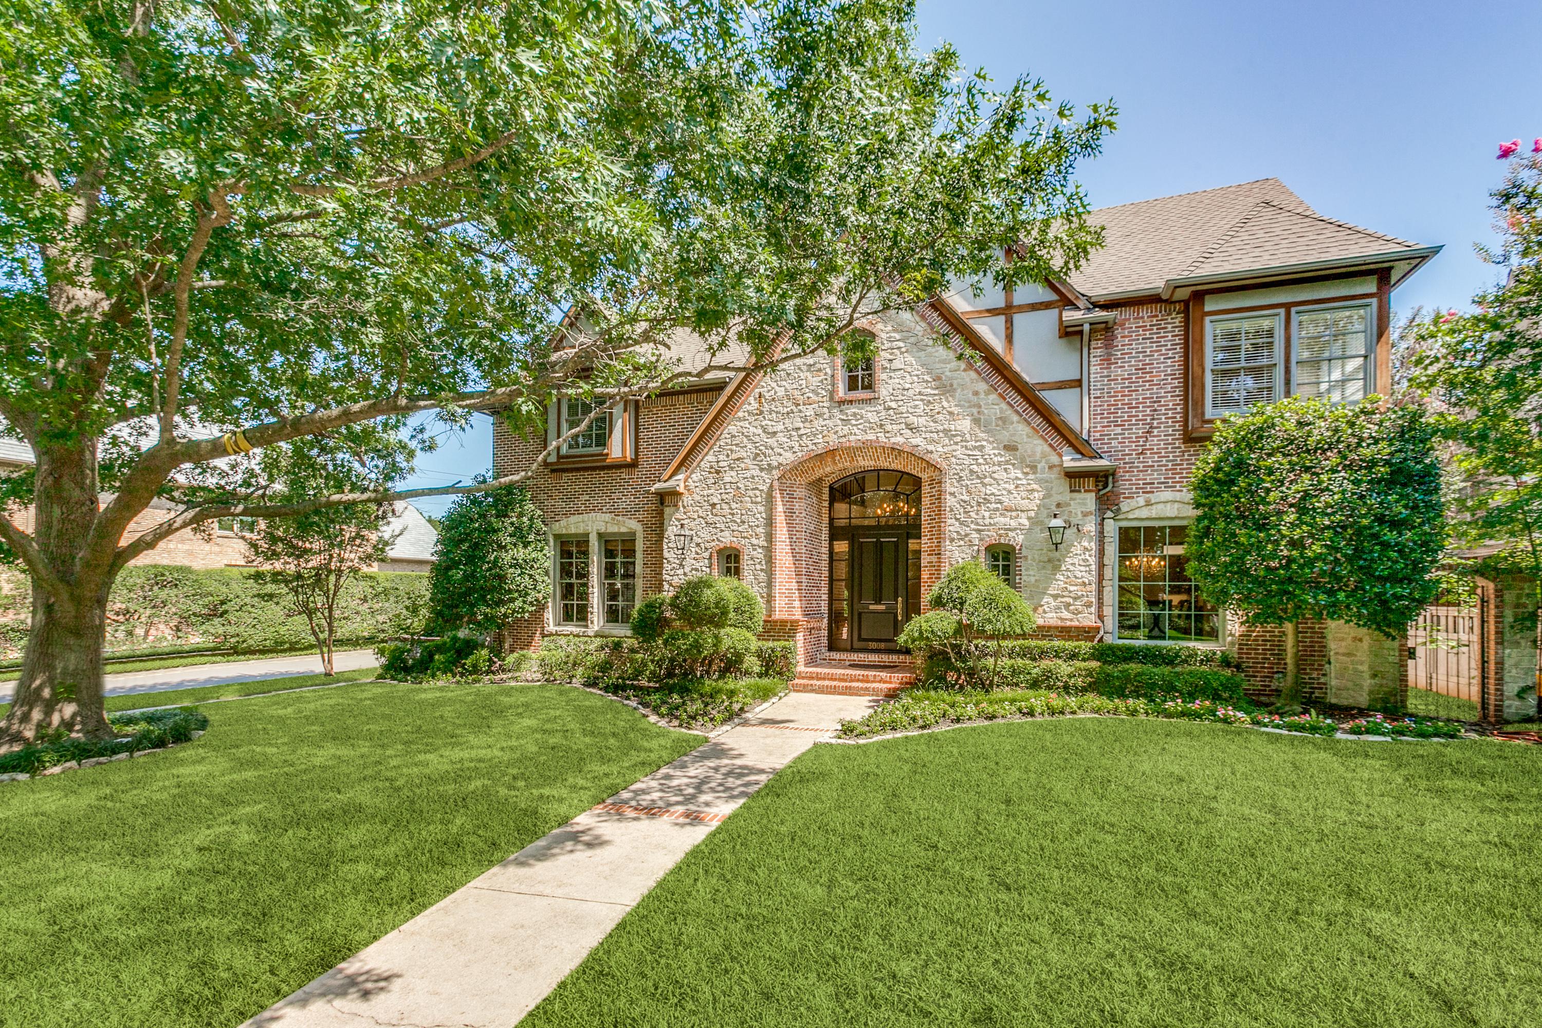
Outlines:
[[[1323, 217], [1278, 179], [1104, 207], [1104, 247], [1070, 276], [1093, 301], [1170, 290], [1170, 284], [1437, 248]], [[1411, 268], [1409, 268], [1411, 270]]]

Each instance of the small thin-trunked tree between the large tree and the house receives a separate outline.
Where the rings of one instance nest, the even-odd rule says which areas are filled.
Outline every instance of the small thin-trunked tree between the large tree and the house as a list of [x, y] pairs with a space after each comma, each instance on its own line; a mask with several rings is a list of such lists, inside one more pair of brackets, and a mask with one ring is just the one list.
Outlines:
[[386, 556], [390, 539], [381, 533], [386, 507], [356, 504], [322, 507], [293, 518], [258, 522], [245, 536], [247, 550], [265, 570], [258, 572], [295, 601], [321, 652], [321, 674], [332, 675], [332, 644], [338, 629], [338, 598], [359, 572]]

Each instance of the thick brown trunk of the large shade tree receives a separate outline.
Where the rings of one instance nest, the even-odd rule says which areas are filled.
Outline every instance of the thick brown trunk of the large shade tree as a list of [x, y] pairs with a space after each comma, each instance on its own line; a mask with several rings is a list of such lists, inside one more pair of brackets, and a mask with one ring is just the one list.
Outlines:
[[85, 738], [111, 735], [102, 709], [102, 650], [113, 581], [79, 570], [88, 564], [82, 556], [97, 510], [96, 439], [40, 447], [32, 538], [65, 593], [51, 595], [32, 576], [32, 627], [11, 712], [0, 721], [0, 749], [59, 729]]

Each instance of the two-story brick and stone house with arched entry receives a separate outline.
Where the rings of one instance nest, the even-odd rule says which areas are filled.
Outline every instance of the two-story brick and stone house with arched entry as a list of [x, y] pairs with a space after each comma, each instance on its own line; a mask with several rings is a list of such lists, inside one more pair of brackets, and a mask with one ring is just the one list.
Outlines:
[[[1231, 647], [1274, 690], [1283, 632], [1237, 624], [1186, 575], [1195, 458], [1254, 404], [1389, 388], [1391, 291], [1439, 247], [1325, 217], [1277, 179], [1092, 220], [1106, 245], [1067, 282], [961, 287], [871, 319], [873, 361], [800, 358], [597, 419], [529, 479], [552, 601], [506, 644], [626, 633], [638, 600], [711, 570], [760, 593], [803, 677], [897, 663], [933, 583], [978, 558], [1044, 635]], [[674, 353], [702, 367], [699, 348]], [[547, 438], [584, 413], [564, 401]], [[497, 473], [544, 445], [500, 422]], [[1300, 638], [1308, 695], [1363, 703], [1403, 680], [1400, 641]]]

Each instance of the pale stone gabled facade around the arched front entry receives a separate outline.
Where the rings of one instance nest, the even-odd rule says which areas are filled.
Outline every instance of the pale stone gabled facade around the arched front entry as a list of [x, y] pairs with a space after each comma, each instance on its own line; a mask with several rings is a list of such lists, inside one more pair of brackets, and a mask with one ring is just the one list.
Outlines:
[[[1021, 592], [1041, 621], [1096, 618], [1093, 495], [1072, 492], [1062, 455], [928, 325], [891, 314], [865, 325], [877, 341], [873, 399], [837, 399], [822, 354], [766, 375], [689, 473], [669, 533], [691, 549], [665, 558], [672, 586], [711, 567], [725, 544], [768, 615], [800, 621], [817, 653], [828, 603], [828, 487], [862, 470], [922, 479], [922, 592], [947, 567], [1010, 543]], [[1070, 522], [1055, 550], [1045, 526]]]

